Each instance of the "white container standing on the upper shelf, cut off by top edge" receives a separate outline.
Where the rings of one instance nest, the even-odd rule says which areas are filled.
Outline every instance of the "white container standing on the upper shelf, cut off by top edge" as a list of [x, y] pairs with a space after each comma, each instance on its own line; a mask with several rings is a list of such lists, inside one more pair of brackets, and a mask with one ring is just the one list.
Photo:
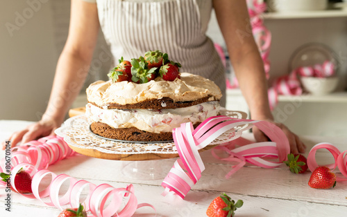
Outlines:
[[325, 10], [328, 0], [267, 0], [267, 7], [278, 12]]

